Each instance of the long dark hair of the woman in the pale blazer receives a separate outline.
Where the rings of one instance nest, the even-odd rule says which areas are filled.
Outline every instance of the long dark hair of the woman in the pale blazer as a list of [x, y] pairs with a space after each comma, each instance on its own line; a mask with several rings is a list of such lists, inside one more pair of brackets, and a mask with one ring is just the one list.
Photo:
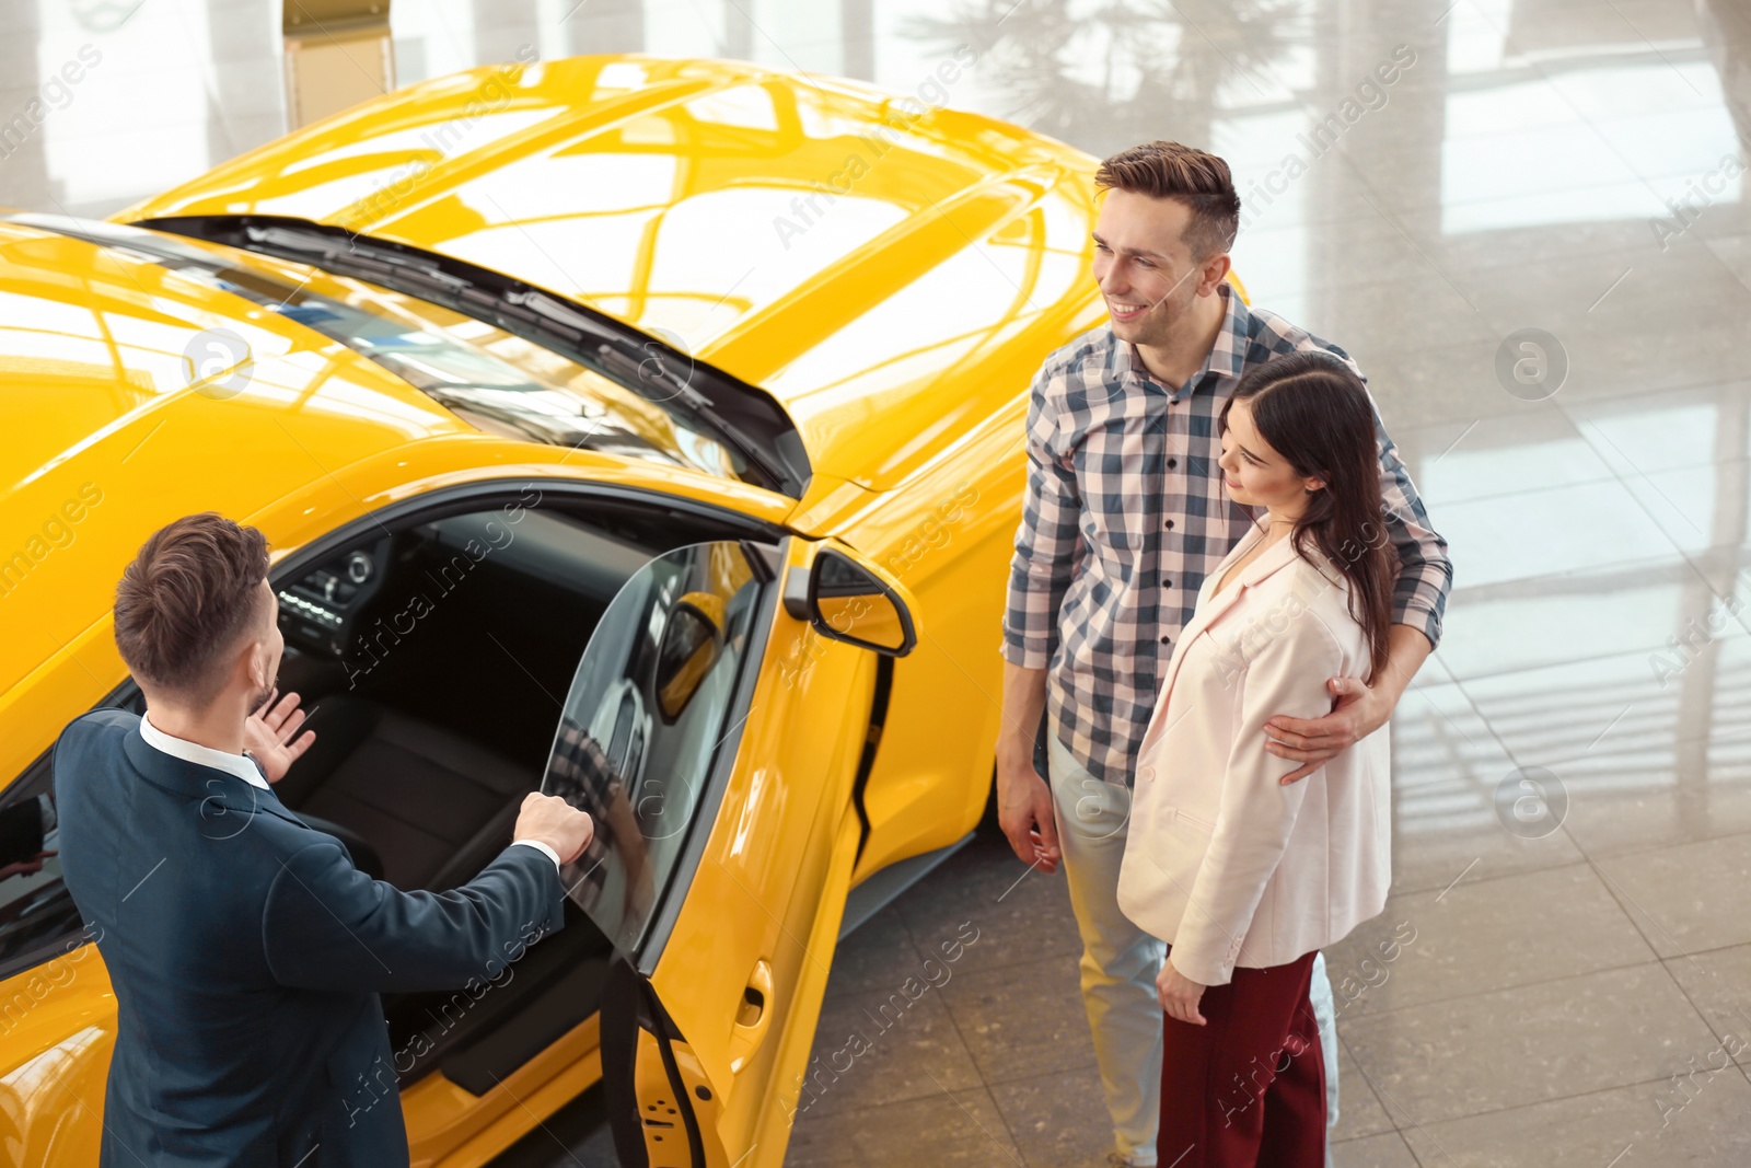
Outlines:
[[1306, 510], [1289, 532], [1296, 555], [1315, 567], [1311, 541], [1350, 581], [1350, 616], [1362, 625], [1371, 651], [1369, 678], [1387, 664], [1392, 588], [1399, 562], [1380, 501], [1380, 448], [1375, 406], [1350, 366], [1320, 352], [1296, 352], [1254, 366], [1222, 405], [1220, 431], [1236, 401], [1252, 408], [1252, 424], [1296, 475], [1326, 480], [1306, 496]]

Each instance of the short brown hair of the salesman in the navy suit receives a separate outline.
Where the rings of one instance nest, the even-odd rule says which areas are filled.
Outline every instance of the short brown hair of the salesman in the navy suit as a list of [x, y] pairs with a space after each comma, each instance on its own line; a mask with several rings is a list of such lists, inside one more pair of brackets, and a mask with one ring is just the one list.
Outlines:
[[261, 616], [268, 541], [215, 511], [159, 527], [116, 585], [116, 646], [137, 679], [193, 699], [224, 688], [221, 664]]

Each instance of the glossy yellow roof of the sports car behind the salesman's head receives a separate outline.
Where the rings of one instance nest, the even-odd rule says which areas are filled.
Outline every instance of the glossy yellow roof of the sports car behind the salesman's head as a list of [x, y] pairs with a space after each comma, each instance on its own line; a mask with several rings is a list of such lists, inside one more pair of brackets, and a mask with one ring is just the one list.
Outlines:
[[247, 520], [385, 450], [476, 434], [284, 315], [42, 228], [0, 221], [0, 695], [110, 611], [172, 518]]

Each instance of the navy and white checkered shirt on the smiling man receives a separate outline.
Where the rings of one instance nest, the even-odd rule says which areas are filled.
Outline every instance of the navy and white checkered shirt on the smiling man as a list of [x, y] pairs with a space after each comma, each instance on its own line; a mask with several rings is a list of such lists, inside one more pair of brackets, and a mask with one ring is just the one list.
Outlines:
[[[1203, 369], [1154, 380], [1101, 324], [1040, 366], [1028, 403], [1028, 489], [1003, 613], [1003, 657], [1047, 669], [1045, 707], [1089, 774], [1131, 786], [1173, 641], [1205, 576], [1254, 525], [1222, 490], [1217, 419], [1241, 375], [1336, 345], [1220, 285], [1227, 319]], [[1366, 382], [1366, 376], [1364, 376]], [[1441, 639], [1453, 569], [1375, 410], [1385, 525], [1399, 553], [1394, 622]]]

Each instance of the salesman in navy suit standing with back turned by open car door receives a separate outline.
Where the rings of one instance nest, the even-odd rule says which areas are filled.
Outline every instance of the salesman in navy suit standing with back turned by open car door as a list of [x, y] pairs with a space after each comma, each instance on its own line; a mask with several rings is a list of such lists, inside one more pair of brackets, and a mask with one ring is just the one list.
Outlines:
[[[95, 709], [54, 746], [61, 870], [116, 989], [103, 1168], [406, 1164], [399, 1107], [348, 1087], [390, 1061], [378, 995], [490, 979], [562, 923], [590, 816], [531, 793], [462, 888], [404, 893], [268, 786], [308, 749], [268, 707], [284, 641], [254, 527], [158, 531], [116, 588], [145, 714]], [[252, 713], [254, 711], [254, 713]]]

